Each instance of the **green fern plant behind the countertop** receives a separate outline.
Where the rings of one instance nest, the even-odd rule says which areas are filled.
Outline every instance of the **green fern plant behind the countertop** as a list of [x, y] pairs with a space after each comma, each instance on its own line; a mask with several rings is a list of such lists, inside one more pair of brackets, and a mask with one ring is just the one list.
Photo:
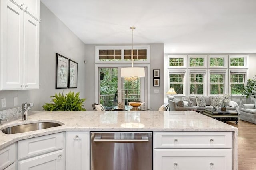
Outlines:
[[79, 98], [79, 93], [68, 92], [65, 96], [62, 94], [55, 93], [51, 100], [52, 103], [45, 103], [43, 109], [45, 111], [86, 111], [83, 108], [85, 99]]

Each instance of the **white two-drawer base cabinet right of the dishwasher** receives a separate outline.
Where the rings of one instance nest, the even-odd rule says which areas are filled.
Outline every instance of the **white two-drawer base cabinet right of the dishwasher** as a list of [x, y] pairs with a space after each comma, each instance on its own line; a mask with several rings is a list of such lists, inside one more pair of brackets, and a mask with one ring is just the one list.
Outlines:
[[154, 170], [232, 170], [232, 132], [154, 132]]

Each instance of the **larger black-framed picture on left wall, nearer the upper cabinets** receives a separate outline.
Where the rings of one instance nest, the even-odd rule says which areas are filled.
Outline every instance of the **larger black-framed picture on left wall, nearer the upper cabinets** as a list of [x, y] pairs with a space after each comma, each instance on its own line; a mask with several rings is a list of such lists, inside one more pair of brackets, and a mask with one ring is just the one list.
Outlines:
[[56, 53], [55, 88], [68, 88], [68, 58]]

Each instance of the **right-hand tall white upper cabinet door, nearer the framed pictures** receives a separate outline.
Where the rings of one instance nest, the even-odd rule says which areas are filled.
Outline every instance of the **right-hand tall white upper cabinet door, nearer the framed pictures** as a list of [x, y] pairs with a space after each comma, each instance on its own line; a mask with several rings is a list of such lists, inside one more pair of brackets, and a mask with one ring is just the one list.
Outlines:
[[24, 14], [24, 89], [39, 88], [39, 23]]

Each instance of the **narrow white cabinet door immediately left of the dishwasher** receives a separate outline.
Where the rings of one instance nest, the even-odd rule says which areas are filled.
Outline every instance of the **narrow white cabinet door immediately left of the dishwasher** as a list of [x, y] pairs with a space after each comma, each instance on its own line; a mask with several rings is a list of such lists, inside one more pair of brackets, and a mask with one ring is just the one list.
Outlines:
[[68, 131], [66, 133], [66, 169], [90, 169], [90, 133]]

